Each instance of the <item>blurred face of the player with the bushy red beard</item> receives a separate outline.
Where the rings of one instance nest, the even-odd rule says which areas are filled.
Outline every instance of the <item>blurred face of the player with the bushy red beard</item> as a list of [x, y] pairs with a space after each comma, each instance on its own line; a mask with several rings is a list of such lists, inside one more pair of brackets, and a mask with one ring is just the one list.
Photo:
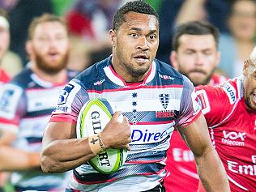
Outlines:
[[38, 24], [31, 44], [31, 57], [39, 69], [49, 74], [55, 74], [66, 67], [69, 38], [62, 23], [45, 22]]

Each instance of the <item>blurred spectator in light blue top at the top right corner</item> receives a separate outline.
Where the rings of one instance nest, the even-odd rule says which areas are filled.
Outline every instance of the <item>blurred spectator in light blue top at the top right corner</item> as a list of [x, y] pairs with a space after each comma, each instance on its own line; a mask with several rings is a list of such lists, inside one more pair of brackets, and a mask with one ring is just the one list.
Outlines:
[[243, 61], [256, 45], [256, 2], [234, 0], [228, 16], [230, 33], [220, 36], [220, 69], [230, 78], [241, 75]]

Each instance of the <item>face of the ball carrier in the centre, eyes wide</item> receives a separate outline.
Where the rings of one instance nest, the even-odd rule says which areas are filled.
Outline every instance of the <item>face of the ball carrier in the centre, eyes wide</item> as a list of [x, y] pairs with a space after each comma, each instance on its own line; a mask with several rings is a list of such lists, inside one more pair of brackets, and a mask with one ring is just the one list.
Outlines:
[[156, 57], [159, 24], [155, 15], [130, 12], [117, 31], [110, 31], [113, 66], [126, 81], [139, 81]]

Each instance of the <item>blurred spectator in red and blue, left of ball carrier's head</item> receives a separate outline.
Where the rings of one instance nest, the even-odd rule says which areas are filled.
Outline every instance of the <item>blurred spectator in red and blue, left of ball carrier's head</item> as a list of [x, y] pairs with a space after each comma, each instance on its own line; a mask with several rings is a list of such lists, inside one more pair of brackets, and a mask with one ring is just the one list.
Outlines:
[[67, 13], [70, 33], [81, 37], [91, 49], [110, 47], [109, 29], [120, 0], [78, 0]]

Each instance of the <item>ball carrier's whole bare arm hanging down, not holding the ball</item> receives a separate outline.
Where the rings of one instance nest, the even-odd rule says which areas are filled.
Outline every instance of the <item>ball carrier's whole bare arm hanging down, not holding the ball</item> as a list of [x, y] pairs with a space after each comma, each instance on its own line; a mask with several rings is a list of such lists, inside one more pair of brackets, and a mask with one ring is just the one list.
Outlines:
[[203, 115], [188, 126], [178, 127], [178, 130], [194, 153], [198, 176], [204, 188], [207, 191], [230, 191], [224, 166], [211, 144]]

